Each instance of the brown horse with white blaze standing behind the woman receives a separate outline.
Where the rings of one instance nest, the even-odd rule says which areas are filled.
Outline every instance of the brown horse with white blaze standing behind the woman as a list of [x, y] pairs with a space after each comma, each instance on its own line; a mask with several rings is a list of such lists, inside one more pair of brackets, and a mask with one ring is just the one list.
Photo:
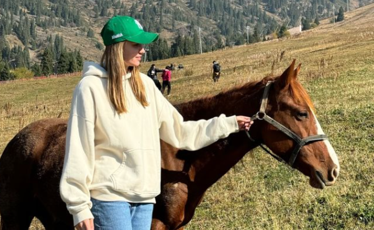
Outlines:
[[[249, 139], [245, 132], [234, 133], [195, 152], [161, 142], [162, 189], [156, 197], [153, 230], [183, 229], [205, 191], [260, 143], [308, 176], [312, 187], [322, 189], [335, 183], [337, 156], [308, 94], [296, 79], [300, 65], [295, 69], [294, 64], [279, 77], [176, 106], [186, 120], [257, 112], [253, 118], [258, 120], [248, 133]], [[63, 119], [36, 121], [6, 146], [0, 159], [1, 230], [26, 230], [34, 217], [46, 230], [74, 229], [58, 190], [66, 126]]]

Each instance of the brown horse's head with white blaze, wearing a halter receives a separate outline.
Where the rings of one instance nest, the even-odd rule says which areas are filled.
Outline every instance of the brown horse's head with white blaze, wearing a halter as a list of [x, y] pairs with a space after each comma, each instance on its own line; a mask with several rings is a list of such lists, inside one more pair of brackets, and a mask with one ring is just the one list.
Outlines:
[[[295, 60], [281, 76], [265, 78], [254, 139], [264, 143], [278, 160], [310, 178], [309, 184], [323, 189], [335, 183], [340, 166], [337, 155], [319, 124], [312, 101], [297, 80], [301, 64]], [[270, 152], [269, 152], [270, 153]]]

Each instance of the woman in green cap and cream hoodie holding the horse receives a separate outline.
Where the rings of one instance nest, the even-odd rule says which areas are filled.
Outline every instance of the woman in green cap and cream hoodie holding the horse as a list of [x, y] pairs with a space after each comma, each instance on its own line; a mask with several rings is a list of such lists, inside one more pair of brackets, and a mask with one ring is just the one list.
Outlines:
[[61, 197], [79, 230], [149, 230], [160, 193], [160, 139], [195, 150], [248, 130], [252, 122], [225, 115], [183, 121], [139, 72], [142, 44], [158, 35], [144, 32], [133, 18], [115, 16], [101, 36], [101, 64], [84, 64], [71, 103]]

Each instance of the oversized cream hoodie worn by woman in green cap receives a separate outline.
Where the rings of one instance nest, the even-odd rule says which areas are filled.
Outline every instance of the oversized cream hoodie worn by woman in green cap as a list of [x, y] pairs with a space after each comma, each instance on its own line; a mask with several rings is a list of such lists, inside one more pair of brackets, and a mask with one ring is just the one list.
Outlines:
[[107, 97], [107, 73], [85, 62], [74, 90], [66, 134], [62, 200], [74, 226], [93, 218], [90, 197], [103, 201], [154, 203], [160, 194], [160, 139], [179, 149], [197, 150], [238, 131], [236, 117], [183, 121], [152, 79], [141, 73], [149, 106], [123, 78], [128, 113], [118, 114]]

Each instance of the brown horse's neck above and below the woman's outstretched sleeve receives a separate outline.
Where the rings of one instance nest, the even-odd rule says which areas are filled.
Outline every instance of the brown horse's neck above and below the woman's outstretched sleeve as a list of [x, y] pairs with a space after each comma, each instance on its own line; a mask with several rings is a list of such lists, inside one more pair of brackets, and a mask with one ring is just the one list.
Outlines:
[[[245, 90], [255, 92], [250, 96], [248, 93], [241, 93], [238, 88], [237, 93], [220, 93], [214, 97], [180, 104], [177, 108], [186, 120], [209, 119], [220, 114], [252, 116], [259, 110], [263, 92], [258, 86], [255, 88], [256, 85], [252, 87]], [[258, 133], [257, 130], [258, 125], [252, 125], [251, 132]], [[188, 170], [191, 181], [197, 185], [195, 188], [204, 192], [256, 146], [240, 131], [200, 149], [192, 157], [188, 156], [191, 153], [187, 153], [184, 170]]]

